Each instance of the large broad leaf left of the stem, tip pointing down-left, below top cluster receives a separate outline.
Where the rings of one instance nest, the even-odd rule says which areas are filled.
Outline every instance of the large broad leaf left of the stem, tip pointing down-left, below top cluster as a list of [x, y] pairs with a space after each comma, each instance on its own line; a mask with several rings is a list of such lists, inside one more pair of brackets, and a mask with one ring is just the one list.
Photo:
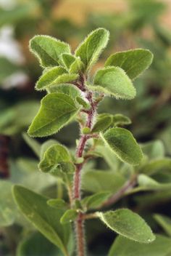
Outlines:
[[67, 125], [77, 112], [78, 108], [70, 96], [56, 92], [46, 95], [41, 100], [41, 108], [28, 134], [32, 137], [53, 135]]

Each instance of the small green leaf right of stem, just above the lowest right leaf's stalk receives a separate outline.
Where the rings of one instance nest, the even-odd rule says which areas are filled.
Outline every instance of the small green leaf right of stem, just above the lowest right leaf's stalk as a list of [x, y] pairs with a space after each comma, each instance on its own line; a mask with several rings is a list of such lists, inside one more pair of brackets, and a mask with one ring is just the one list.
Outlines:
[[96, 209], [101, 206], [101, 204], [104, 203], [107, 199], [109, 199], [109, 196], [111, 196], [111, 192], [99, 192], [95, 193], [92, 196], [86, 196], [81, 203], [83, 204], [83, 207], [86, 207], [86, 209]]

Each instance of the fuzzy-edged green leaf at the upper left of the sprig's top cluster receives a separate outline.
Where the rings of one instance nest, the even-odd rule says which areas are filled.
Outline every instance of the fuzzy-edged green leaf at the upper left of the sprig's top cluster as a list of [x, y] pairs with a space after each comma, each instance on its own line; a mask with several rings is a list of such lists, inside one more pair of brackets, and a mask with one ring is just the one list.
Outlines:
[[34, 36], [30, 40], [30, 51], [33, 52], [43, 68], [59, 65], [59, 57], [70, 53], [69, 44], [51, 36]]

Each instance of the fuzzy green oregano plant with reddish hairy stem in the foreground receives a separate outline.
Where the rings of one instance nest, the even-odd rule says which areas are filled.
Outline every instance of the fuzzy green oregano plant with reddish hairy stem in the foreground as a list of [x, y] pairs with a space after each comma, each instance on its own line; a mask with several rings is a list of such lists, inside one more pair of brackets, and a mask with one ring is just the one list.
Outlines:
[[[149, 244], [155, 239], [149, 225], [137, 213], [125, 208], [107, 210], [136, 189], [136, 184], [143, 184], [143, 188], [144, 184], [157, 184], [146, 176], [146, 156], [141, 146], [128, 129], [122, 128], [131, 123], [130, 119], [119, 113], [97, 113], [104, 97], [135, 97], [133, 79], [149, 67], [153, 55], [148, 49], [114, 53], [92, 76], [91, 68], [108, 41], [109, 31], [104, 28], [90, 33], [74, 53], [67, 43], [51, 36], [30, 40], [30, 51], [43, 68], [36, 90], [45, 91], [46, 96], [28, 135], [55, 135], [71, 121], [77, 121], [80, 138], [73, 153], [57, 140], [47, 140], [40, 146], [25, 135], [40, 157], [40, 171], [57, 177], [58, 185], [66, 188], [68, 199], [46, 198], [21, 185], [14, 185], [13, 196], [25, 217], [65, 256], [86, 255], [84, 227], [91, 218], [99, 218], [107, 228], [134, 242]], [[104, 158], [112, 167], [113, 159], [129, 166], [128, 180], [124, 175], [121, 178], [120, 173], [88, 169], [88, 161], [97, 157]], [[114, 255], [112, 250], [113, 247], [109, 255]]]

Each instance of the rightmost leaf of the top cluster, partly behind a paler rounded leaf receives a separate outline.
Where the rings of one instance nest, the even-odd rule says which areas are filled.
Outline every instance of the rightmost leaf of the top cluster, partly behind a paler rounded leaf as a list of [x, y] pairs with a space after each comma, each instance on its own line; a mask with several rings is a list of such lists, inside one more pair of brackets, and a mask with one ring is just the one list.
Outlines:
[[118, 66], [127, 73], [130, 79], [135, 79], [146, 68], [149, 68], [152, 60], [153, 55], [148, 49], [130, 49], [111, 55], [104, 65], [105, 67]]

